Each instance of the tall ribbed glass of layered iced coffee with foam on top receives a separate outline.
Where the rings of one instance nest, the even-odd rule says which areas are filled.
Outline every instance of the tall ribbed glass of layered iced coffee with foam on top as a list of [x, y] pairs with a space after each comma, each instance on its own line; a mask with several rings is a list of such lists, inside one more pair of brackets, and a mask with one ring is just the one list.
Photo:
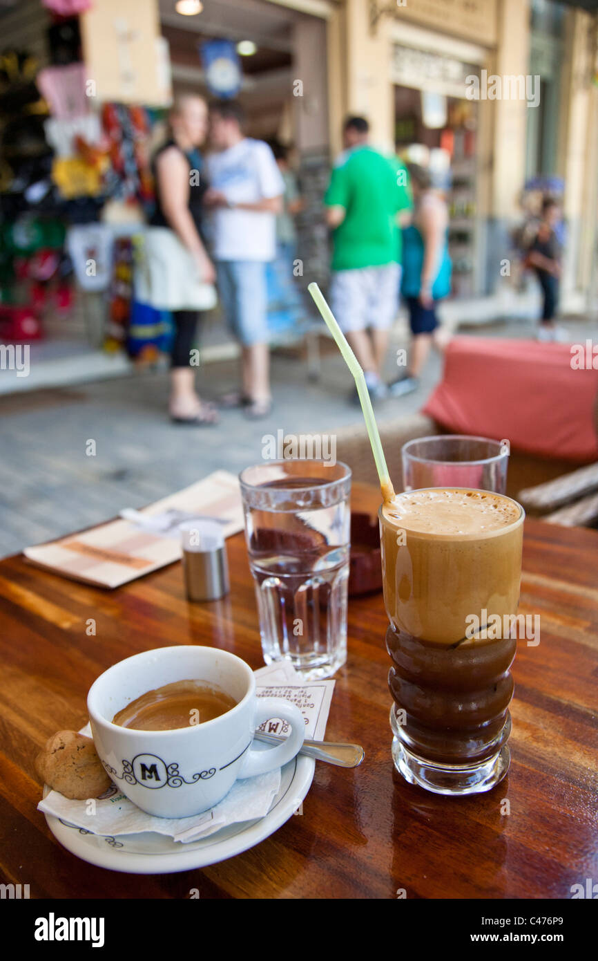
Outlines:
[[380, 508], [393, 756], [437, 793], [489, 790], [509, 767], [523, 517], [510, 498], [464, 488]]

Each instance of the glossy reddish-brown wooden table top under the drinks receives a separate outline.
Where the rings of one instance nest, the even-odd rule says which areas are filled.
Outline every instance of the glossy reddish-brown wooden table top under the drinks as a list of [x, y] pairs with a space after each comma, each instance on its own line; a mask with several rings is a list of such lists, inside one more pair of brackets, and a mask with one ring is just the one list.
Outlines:
[[[354, 485], [353, 505], [379, 494]], [[447, 799], [405, 783], [391, 760], [390, 659], [381, 594], [353, 600], [348, 660], [326, 737], [364, 746], [360, 768], [317, 764], [302, 817], [203, 871], [123, 875], [62, 849], [36, 810], [34, 757], [59, 728], [86, 722], [85, 696], [110, 664], [154, 647], [209, 644], [262, 666], [243, 535], [229, 539], [231, 592], [187, 604], [180, 565], [105, 592], [0, 562], [0, 824], [3, 880], [32, 898], [570, 898], [598, 879], [598, 533], [526, 522], [512, 765], [493, 791]], [[95, 635], [87, 633], [89, 619]], [[505, 813], [510, 802], [510, 813]]]

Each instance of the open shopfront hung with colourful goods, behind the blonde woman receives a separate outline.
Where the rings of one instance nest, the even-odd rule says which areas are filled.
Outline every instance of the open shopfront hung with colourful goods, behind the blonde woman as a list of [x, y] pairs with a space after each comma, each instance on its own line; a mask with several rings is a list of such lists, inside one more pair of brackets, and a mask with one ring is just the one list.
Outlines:
[[[86, 62], [93, 43], [84, 18], [66, 21], [65, 33], [42, 8], [35, 21], [20, 5], [0, 13], [14, 54], [0, 75], [0, 324], [5, 341], [31, 341], [30, 388], [110, 376], [129, 369], [128, 357], [139, 358], [130, 336], [133, 237], [151, 214], [150, 159], [167, 113], [155, 77], [162, 89], [170, 86], [169, 60], [175, 95], [223, 95], [214, 77], [208, 81], [205, 43], [227, 41], [235, 53], [240, 78], [229, 95], [248, 114], [248, 135], [291, 148], [304, 202], [296, 218], [304, 274], [321, 280], [327, 264], [320, 215], [328, 171], [325, 20], [266, 0], [204, 0], [197, 16], [157, 0], [150, 29], [137, 3], [120, 0], [120, 19], [107, 14], [96, 31], [97, 70]], [[90, 76], [97, 90], [86, 89]], [[141, 341], [154, 362], [161, 333]]]

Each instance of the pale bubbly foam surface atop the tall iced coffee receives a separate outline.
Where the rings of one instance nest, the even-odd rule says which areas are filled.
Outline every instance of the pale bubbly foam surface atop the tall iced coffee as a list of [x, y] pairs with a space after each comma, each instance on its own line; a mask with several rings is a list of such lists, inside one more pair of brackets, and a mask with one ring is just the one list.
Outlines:
[[510, 527], [521, 511], [490, 491], [432, 488], [396, 494], [383, 513], [397, 527], [432, 537], [480, 537]]

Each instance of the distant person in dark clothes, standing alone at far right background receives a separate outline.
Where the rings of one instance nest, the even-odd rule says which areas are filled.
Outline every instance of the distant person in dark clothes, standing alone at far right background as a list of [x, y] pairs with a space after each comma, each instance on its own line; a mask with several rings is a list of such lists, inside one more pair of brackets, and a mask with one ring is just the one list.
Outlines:
[[555, 324], [559, 303], [562, 247], [556, 229], [560, 223], [561, 209], [555, 200], [546, 197], [542, 202], [538, 231], [532, 240], [526, 263], [533, 267], [542, 290], [542, 315], [538, 328], [538, 340], [559, 340], [562, 331]]

